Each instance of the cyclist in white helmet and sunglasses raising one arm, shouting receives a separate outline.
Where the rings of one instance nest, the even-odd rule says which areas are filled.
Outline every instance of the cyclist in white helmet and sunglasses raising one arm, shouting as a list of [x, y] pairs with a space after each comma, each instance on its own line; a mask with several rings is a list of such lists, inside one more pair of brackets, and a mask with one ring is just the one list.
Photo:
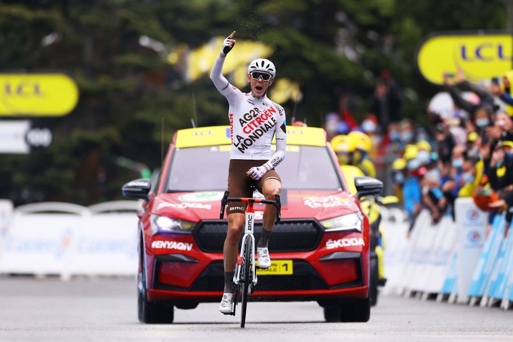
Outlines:
[[[231, 197], [251, 197], [251, 185], [254, 185], [267, 199], [274, 200], [280, 194], [281, 178], [274, 168], [285, 158], [287, 135], [285, 111], [272, 102], [267, 90], [274, 82], [276, 69], [268, 59], [258, 58], [248, 66], [247, 79], [251, 87], [249, 93], [243, 93], [232, 86], [222, 75], [226, 54], [235, 45], [233, 31], [223, 43], [221, 53], [216, 58], [210, 72], [215, 88], [223, 94], [230, 105], [230, 165], [228, 185]], [[276, 152], [271, 152], [271, 142], [276, 135]], [[224, 243], [225, 288], [219, 311], [233, 311], [233, 274], [239, 240], [244, 230], [247, 204], [230, 202], [227, 206], [228, 232]], [[271, 260], [267, 248], [269, 237], [276, 218], [276, 208], [266, 205], [263, 217], [262, 235], [257, 245], [258, 265], [269, 268]]]

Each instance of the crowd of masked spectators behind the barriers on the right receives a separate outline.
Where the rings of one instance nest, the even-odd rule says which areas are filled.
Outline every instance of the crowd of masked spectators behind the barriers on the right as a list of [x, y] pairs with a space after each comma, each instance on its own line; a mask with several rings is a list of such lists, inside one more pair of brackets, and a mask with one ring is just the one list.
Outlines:
[[388, 176], [408, 214], [410, 229], [422, 209], [438, 223], [444, 215], [454, 215], [456, 198], [472, 197], [489, 213], [488, 231], [495, 215], [505, 212], [506, 235], [513, 219], [513, 71], [488, 85], [468, 82], [462, 71], [445, 74], [442, 91], [451, 104], [443, 111], [428, 108], [429, 128], [398, 121], [400, 90], [392, 86], [388, 74], [380, 82], [369, 104], [376, 115], [367, 115], [353, 127], [343, 106], [340, 113], [327, 116], [326, 129], [341, 164], [350, 163], [346, 150], [354, 151], [342, 137], [362, 131], [372, 139], [371, 158], [394, 156]]

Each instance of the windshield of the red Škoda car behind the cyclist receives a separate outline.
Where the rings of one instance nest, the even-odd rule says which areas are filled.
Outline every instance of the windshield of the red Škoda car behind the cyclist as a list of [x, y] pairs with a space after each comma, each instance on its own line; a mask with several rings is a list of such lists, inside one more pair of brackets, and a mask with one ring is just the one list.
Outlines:
[[[272, 147], [275, 149], [275, 147]], [[203, 146], [174, 150], [166, 189], [175, 191], [226, 190], [230, 146]], [[326, 147], [287, 146], [287, 156], [276, 168], [284, 189], [342, 190]]]

